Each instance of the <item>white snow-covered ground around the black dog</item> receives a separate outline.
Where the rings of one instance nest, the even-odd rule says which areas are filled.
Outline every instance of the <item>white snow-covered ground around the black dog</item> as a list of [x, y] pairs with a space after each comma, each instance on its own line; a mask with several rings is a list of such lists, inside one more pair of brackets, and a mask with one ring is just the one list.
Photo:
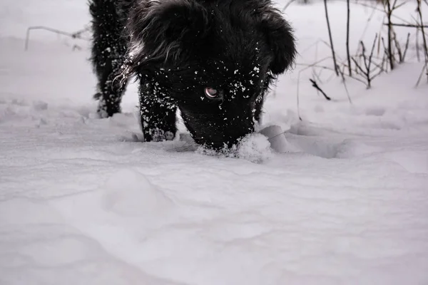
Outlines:
[[[328, 40], [321, 4], [285, 16], [297, 63], [330, 56], [314, 46]], [[345, 4], [330, 16], [345, 58]], [[96, 118], [87, 41], [33, 31], [24, 51], [28, 26], [88, 21], [86, 0], [0, 2], [1, 285], [428, 284], [428, 86], [414, 88], [414, 43], [372, 89], [348, 80], [352, 104], [329, 71], [331, 101], [302, 73], [302, 121], [295, 66], [265, 105], [264, 127], [285, 132], [272, 149], [213, 157], [139, 141], [136, 85], [122, 114]], [[352, 51], [382, 21], [352, 6]]]

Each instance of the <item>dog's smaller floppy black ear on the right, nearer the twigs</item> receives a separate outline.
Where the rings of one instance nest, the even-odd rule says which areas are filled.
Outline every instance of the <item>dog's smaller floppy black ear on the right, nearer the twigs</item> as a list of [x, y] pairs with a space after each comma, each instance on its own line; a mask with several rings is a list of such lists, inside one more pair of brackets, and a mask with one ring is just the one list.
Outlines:
[[276, 9], [267, 9], [261, 16], [261, 26], [272, 51], [270, 71], [274, 75], [284, 73], [295, 61], [295, 38], [290, 24]]

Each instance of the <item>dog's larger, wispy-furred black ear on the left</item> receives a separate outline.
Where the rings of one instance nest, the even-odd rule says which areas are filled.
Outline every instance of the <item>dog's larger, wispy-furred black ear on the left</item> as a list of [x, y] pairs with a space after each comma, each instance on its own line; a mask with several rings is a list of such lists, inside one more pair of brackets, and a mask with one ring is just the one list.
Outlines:
[[207, 26], [207, 11], [194, 0], [147, 1], [131, 11], [131, 53], [136, 60], [184, 60]]

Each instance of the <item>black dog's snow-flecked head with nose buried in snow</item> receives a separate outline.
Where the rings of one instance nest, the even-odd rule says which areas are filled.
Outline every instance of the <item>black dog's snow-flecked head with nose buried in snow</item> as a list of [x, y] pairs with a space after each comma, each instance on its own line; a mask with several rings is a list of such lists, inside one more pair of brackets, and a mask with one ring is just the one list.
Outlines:
[[253, 132], [272, 79], [295, 58], [290, 25], [268, 0], [143, 0], [128, 28], [142, 86], [171, 98], [208, 147]]

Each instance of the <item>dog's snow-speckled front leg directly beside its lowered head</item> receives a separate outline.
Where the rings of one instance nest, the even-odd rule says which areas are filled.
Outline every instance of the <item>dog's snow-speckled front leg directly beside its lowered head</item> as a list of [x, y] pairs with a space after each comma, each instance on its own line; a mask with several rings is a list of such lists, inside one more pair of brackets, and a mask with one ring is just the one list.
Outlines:
[[177, 126], [174, 103], [156, 94], [150, 85], [146, 84], [140, 90], [141, 128], [146, 142], [173, 140]]

